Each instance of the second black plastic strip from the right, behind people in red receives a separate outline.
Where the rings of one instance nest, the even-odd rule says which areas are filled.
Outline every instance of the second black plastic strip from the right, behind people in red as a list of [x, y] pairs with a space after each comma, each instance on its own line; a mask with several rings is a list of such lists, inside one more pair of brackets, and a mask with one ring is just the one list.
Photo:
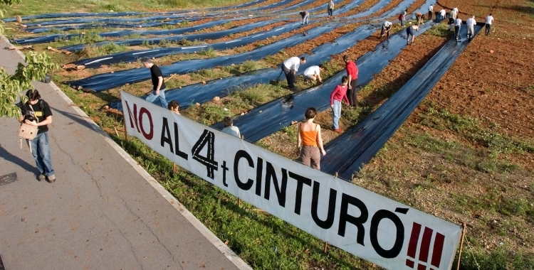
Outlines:
[[[433, 25], [434, 23], [426, 23], [420, 26], [416, 36], [421, 35]], [[374, 51], [359, 58], [357, 60], [358, 85], [367, 85], [373, 75], [382, 71], [405, 46], [406, 31], [401, 31], [390, 36], [389, 40], [379, 43]], [[303, 120], [305, 109], [308, 107], [315, 107], [318, 112], [330, 108], [330, 93], [336, 85], [340, 84], [341, 77], [345, 75], [346, 72], [343, 70], [325, 80], [318, 87], [256, 107], [248, 114], [234, 119], [234, 125], [239, 126], [241, 134], [247, 141], [256, 142], [289, 126], [292, 121]], [[213, 127], [222, 129], [222, 123], [214, 124]]]

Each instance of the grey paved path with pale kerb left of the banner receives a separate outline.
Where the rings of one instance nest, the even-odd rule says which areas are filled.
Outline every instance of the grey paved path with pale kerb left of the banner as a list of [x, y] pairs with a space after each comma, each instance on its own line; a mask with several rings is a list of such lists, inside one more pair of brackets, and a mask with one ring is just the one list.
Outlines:
[[[21, 55], [0, 40], [14, 72]], [[14, 119], [0, 118], [0, 255], [13, 269], [250, 269], [53, 84], [56, 183], [36, 180]], [[56, 89], [55, 89], [56, 88]]]

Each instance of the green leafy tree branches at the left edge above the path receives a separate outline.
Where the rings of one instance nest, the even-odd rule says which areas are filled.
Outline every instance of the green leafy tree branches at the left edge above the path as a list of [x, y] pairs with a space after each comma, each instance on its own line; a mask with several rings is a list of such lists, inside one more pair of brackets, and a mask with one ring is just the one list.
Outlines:
[[[11, 6], [20, 0], [0, 0], [0, 4]], [[0, 9], [0, 18], [4, 18], [5, 10]], [[4, 34], [3, 21], [0, 20], [0, 35]], [[59, 65], [52, 62], [46, 53], [30, 51], [26, 55], [26, 65], [19, 63], [14, 75], [9, 75], [4, 67], [0, 68], [0, 117], [19, 117], [21, 111], [16, 106], [17, 97], [26, 101], [22, 95], [28, 89], [34, 89], [33, 80], [44, 80], [48, 70], [55, 70]]]

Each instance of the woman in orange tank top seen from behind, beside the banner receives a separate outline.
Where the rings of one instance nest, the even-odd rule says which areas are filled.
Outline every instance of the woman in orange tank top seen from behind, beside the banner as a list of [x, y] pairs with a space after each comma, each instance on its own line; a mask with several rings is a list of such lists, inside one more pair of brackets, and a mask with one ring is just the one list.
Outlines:
[[[309, 107], [304, 113], [305, 121], [298, 124], [297, 153], [300, 163], [320, 170], [321, 154], [325, 156], [326, 152], [323, 148], [321, 126], [313, 123], [316, 115], [317, 110], [314, 107]], [[301, 145], [302, 148], [300, 148]]]

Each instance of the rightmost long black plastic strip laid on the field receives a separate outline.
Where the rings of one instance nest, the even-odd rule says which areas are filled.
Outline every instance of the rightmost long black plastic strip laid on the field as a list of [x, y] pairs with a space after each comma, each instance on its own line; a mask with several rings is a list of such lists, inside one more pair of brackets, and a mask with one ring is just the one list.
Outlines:
[[[475, 35], [483, 25], [483, 23], [477, 24]], [[466, 36], [466, 28], [462, 28], [461, 35]], [[331, 141], [325, 147], [330, 155], [327, 154], [321, 159], [321, 169], [331, 174], [337, 172], [340, 178], [351, 180], [352, 175], [360, 171], [362, 165], [375, 156], [412, 114], [468, 43], [466, 40], [461, 42], [451, 40], [446, 43], [412, 79], [375, 112], [354, 128], [347, 130], [342, 136]]]

